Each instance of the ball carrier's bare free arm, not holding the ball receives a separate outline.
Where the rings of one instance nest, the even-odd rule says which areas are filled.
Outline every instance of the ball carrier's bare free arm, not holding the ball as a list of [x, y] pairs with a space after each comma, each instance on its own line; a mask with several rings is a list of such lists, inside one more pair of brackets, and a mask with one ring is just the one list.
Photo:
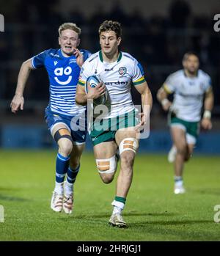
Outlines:
[[153, 105], [153, 98], [146, 81], [144, 81], [144, 83], [142, 84], [136, 85], [135, 88], [142, 96], [143, 113], [141, 113], [141, 122], [138, 125], [136, 125], [136, 130], [139, 130], [142, 129], [143, 125], [146, 124], [147, 117], [150, 116], [150, 111]]

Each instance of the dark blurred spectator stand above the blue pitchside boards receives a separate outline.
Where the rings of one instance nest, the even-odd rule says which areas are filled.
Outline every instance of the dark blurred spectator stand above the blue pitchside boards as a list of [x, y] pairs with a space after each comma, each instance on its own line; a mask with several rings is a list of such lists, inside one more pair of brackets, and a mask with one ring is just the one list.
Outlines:
[[[199, 54], [200, 68], [213, 80], [213, 117], [218, 120], [220, 32], [213, 30], [213, 16], [220, 13], [220, 5], [219, 12], [215, 9], [219, 1], [208, 1], [207, 13], [195, 11], [196, 3], [199, 8], [199, 1], [196, 0], [163, 1], [168, 4], [163, 12], [160, 10], [161, 1], [154, 1], [153, 4], [150, 4], [150, 1], [142, 1], [145, 3], [142, 8], [137, 4], [130, 12], [127, 11], [128, 6], [124, 8], [126, 2], [129, 4], [131, 1], [111, 1], [111, 4], [106, 1], [106, 10], [103, 1], [96, 0], [95, 10], [92, 9], [93, 12], [88, 13], [81, 4], [74, 5], [73, 1], [67, 0], [4, 2], [1, 13], [5, 19], [5, 32], [0, 33], [0, 115], [3, 117], [1, 123], [7, 120], [16, 121], [18, 118], [21, 120], [21, 117], [30, 122], [43, 122], [43, 109], [48, 103], [48, 76], [45, 70], [34, 70], [30, 74], [24, 93], [26, 101], [23, 113], [19, 114], [19, 117], [12, 117], [10, 113], [10, 101], [15, 92], [22, 62], [45, 49], [58, 48], [57, 30], [64, 22], [77, 23], [81, 27], [81, 48], [92, 53], [98, 51], [98, 26], [106, 19], [122, 23], [120, 49], [135, 56], [144, 67], [145, 77], [153, 93], [153, 127], [157, 125], [158, 115], [162, 120], [166, 120], [166, 113], [156, 100], [156, 92], [170, 73], [182, 68], [181, 61], [186, 51], [196, 51]], [[158, 3], [158, 12], [155, 12], [155, 3]], [[209, 6], [211, 3], [213, 8]], [[66, 9], [62, 4], [66, 4]], [[146, 13], [144, 10], [147, 10]], [[134, 90], [132, 92], [137, 103], [139, 95]]]

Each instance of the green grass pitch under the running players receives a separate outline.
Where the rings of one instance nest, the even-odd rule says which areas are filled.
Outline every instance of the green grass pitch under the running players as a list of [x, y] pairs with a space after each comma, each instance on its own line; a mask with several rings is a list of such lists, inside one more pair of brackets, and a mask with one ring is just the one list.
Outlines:
[[[50, 209], [55, 151], [0, 151], [0, 241], [219, 241], [220, 158], [186, 164], [186, 194], [173, 194], [165, 155], [138, 154], [124, 210], [129, 228], [109, 227], [115, 181], [101, 182], [92, 153], [84, 153], [70, 216]], [[115, 177], [116, 178], [116, 177]]]

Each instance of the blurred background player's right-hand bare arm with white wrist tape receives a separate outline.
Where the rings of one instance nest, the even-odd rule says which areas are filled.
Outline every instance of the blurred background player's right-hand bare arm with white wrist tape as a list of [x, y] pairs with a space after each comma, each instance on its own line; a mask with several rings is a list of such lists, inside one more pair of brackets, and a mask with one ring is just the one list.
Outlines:
[[213, 126], [211, 122], [211, 111], [213, 109], [213, 105], [214, 105], [214, 95], [213, 95], [213, 90], [210, 87], [208, 92], [205, 93], [204, 114], [201, 121], [202, 128], [207, 130], [210, 130]]

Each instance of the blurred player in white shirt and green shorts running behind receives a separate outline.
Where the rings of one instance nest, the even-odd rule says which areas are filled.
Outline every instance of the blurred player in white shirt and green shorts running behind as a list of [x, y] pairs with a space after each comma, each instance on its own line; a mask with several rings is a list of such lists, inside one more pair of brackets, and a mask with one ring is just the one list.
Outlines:
[[[174, 93], [170, 102], [168, 95]], [[183, 70], [172, 73], [158, 90], [157, 98], [165, 111], [169, 111], [169, 126], [173, 146], [168, 161], [174, 162], [175, 194], [183, 194], [184, 163], [191, 157], [199, 135], [200, 125], [212, 128], [213, 90], [207, 73], [199, 70], [199, 57], [194, 52], [183, 56]], [[204, 114], [201, 111], [204, 100]]]

